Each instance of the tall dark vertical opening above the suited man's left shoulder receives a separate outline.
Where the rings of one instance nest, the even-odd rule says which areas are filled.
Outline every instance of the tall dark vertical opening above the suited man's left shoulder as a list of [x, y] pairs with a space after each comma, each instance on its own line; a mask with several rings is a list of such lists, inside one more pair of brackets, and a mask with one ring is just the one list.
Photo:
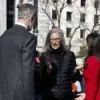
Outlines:
[[14, 5], [15, 0], [7, 0], [7, 29], [14, 24]]

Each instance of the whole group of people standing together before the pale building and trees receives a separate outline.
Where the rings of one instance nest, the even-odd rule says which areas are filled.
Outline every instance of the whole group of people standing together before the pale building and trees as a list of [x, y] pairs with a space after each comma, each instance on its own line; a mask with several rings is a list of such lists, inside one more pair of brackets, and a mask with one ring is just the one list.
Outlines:
[[29, 33], [35, 17], [33, 5], [20, 5], [16, 25], [0, 37], [0, 100], [99, 100], [99, 33], [87, 36], [78, 66], [58, 27], [48, 32], [44, 52], [36, 52], [37, 37]]

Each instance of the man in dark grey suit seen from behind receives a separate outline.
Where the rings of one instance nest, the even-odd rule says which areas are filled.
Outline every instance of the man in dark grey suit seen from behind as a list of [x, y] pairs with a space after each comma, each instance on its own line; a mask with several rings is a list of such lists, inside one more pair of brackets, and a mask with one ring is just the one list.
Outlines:
[[0, 37], [0, 100], [35, 100], [36, 37], [28, 32], [35, 13], [33, 5], [22, 4], [17, 24]]

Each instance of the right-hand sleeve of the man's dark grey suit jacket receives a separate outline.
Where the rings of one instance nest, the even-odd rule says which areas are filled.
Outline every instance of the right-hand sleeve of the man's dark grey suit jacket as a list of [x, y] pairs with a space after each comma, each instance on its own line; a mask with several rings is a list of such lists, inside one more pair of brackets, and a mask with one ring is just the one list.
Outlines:
[[27, 100], [35, 100], [34, 67], [36, 38], [29, 36], [22, 48], [22, 79]]

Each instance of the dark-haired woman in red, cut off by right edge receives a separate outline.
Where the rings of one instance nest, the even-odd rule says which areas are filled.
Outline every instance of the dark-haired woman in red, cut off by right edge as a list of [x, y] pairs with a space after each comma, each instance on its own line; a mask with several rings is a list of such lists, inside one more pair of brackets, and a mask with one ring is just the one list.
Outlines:
[[100, 35], [91, 33], [86, 38], [87, 56], [84, 63], [85, 100], [100, 100]]

